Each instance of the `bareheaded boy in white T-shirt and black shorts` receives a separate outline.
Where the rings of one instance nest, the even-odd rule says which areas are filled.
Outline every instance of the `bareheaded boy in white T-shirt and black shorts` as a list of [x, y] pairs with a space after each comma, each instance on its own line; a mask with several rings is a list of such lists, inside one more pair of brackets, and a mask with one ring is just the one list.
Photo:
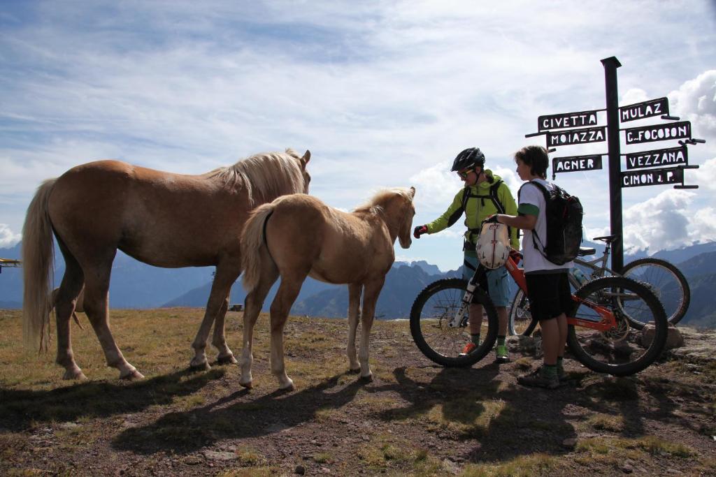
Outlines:
[[[556, 265], [543, 254], [540, 245], [546, 244], [546, 200], [538, 186], [530, 182], [539, 182], [548, 191], [553, 190], [547, 182], [549, 157], [541, 146], [523, 147], [515, 154], [517, 174], [523, 184], [519, 193], [518, 215], [498, 214], [497, 222], [524, 230], [522, 240], [523, 265], [527, 280], [527, 297], [530, 300], [530, 312], [537, 318], [542, 330], [543, 366], [536, 372], [520, 376], [518, 383], [541, 388], [558, 388], [564, 381], [562, 358], [567, 340], [566, 313], [571, 308], [571, 292], [567, 273], [573, 262]], [[533, 240], [533, 234], [538, 240]]]

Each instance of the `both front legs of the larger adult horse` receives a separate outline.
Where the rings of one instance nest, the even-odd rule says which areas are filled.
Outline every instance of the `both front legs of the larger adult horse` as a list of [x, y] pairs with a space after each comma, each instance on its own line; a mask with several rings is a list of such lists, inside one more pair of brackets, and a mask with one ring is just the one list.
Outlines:
[[[208, 370], [211, 368], [209, 361], [206, 359], [206, 340], [209, 338], [209, 330], [214, 320], [221, 315], [221, 329], [219, 330], [218, 336], [216, 330], [214, 330], [214, 345], [219, 350], [219, 356], [223, 362], [236, 362], [233, 360], [233, 353], [228, 349], [226, 345], [226, 338], [223, 332], [224, 316], [226, 315], [226, 309], [228, 308], [228, 295], [231, 292], [231, 285], [236, 281], [238, 274], [241, 273], [241, 265], [235, 260], [229, 263], [222, 262], [216, 266], [216, 274], [214, 275], [214, 281], [211, 284], [211, 293], [209, 294], [209, 300], [206, 303], [206, 310], [204, 313], [204, 319], [201, 321], [199, 330], [196, 333], [191, 347], [194, 348], [194, 358], [189, 363], [189, 368], [193, 370]], [[219, 321], [219, 320], [218, 320]], [[217, 321], [217, 325], [218, 325]], [[233, 360], [233, 361], [232, 361]]]

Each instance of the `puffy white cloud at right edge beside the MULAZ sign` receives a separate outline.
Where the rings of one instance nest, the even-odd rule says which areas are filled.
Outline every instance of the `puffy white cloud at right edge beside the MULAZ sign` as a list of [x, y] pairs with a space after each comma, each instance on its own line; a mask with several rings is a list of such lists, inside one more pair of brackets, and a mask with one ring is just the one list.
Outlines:
[[695, 137], [703, 134], [716, 139], [716, 69], [710, 69], [685, 82], [677, 91], [670, 92], [669, 104], [674, 114], [692, 122]]

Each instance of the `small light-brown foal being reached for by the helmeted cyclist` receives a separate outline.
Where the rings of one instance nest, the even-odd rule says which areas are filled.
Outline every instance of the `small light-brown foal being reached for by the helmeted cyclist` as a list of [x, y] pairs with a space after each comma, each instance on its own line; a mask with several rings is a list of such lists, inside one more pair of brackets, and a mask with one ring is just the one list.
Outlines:
[[[248, 292], [243, 314], [241, 380], [251, 388], [253, 326], [271, 285], [281, 285], [271, 303], [271, 372], [281, 389], [292, 389], [284, 368], [284, 324], [306, 276], [327, 283], [347, 283], [348, 346], [352, 371], [372, 379], [368, 365], [370, 328], [385, 274], [395, 261], [393, 244], [410, 247], [415, 188], [379, 192], [351, 213], [328, 207], [303, 194], [280, 197], [251, 213], [241, 236], [243, 286]], [[359, 310], [363, 295], [363, 310]], [[355, 336], [362, 321], [359, 360]], [[360, 364], [359, 364], [360, 361]]]

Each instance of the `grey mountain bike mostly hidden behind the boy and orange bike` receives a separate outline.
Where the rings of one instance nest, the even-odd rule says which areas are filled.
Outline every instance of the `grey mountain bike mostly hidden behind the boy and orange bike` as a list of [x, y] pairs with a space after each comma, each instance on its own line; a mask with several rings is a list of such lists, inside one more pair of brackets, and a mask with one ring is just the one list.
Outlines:
[[[606, 267], [611, 242], [614, 242], [616, 237], [618, 236], [607, 235], [606, 237], [594, 238], [594, 240], [600, 240], [605, 244], [604, 253], [601, 257], [596, 257], [594, 260], [574, 259], [575, 267], [569, 274], [569, 282], [575, 290], [584, 285], [584, 282], [595, 278], [607, 275], [619, 276], [619, 273]], [[595, 254], [596, 250], [594, 248], [580, 247], [579, 255], [581, 257]], [[624, 265], [621, 276], [632, 278], [651, 288], [654, 295], [657, 295], [657, 298], [664, 306], [669, 323], [676, 325], [684, 318], [691, 301], [691, 290], [684, 274], [671, 262], [653, 257], [640, 258]], [[644, 322], [636, 321], [632, 317], [632, 326], [638, 328], [643, 327], [645, 324]], [[527, 295], [522, 290], [517, 290], [510, 306], [509, 333], [511, 335], [528, 336], [531, 335], [536, 325], [536, 320], [532, 320], [532, 316], [529, 313]]]

